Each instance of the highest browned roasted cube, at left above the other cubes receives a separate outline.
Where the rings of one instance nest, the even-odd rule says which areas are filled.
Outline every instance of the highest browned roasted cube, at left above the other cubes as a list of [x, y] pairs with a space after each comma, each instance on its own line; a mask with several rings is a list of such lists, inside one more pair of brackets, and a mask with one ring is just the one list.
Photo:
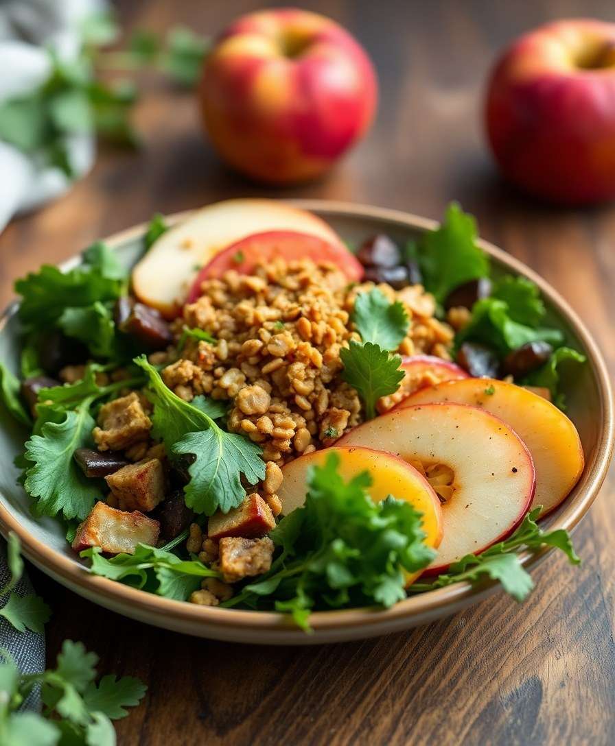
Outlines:
[[104, 404], [93, 430], [99, 451], [121, 451], [149, 438], [152, 421], [135, 392]]

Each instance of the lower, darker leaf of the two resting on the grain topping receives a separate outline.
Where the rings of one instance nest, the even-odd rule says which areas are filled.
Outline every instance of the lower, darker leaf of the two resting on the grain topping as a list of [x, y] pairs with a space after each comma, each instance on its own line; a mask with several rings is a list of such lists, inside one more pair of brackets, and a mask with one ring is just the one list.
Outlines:
[[404, 372], [399, 369], [402, 358], [389, 355], [372, 342], [351, 340], [349, 348], [340, 350], [346, 383], [357, 389], [363, 400], [367, 419], [375, 417], [375, 404], [381, 396], [393, 394], [399, 388]]

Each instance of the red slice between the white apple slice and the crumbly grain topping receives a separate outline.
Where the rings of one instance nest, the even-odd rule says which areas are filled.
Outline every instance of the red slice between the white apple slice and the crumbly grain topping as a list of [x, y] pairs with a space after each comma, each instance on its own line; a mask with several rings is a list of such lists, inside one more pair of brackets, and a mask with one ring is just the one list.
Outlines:
[[330, 243], [319, 236], [296, 231], [266, 231], [254, 233], [231, 244], [206, 264], [196, 276], [188, 294], [188, 302], [201, 295], [201, 283], [210, 278], [220, 278], [228, 269], [240, 275], [249, 275], [258, 262], [271, 262], [282, 258], [287, 261], [311, 259], [336, 264], [352, 282], [363, 277], [363, 266], [345, 246]]

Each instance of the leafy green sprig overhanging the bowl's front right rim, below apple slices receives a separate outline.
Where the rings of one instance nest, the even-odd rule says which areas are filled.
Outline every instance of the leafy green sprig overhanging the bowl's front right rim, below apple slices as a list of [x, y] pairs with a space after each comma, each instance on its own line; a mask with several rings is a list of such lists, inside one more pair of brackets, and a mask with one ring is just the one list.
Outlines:
[[534, 583], [522, 567], [519, 555], [516, 554], [519, 548], [538, 550], [545, 546], [556, 547], [566, 554], [572, 565], [578, 565], [581, 562], [566, 530], [558, 529], [548, 532], [538, 526], [536, 520], [541, 510], [542, 506], [531, 510], [509, 539], [493, 545], [482, 554], [466, 555], [459, 562], [452, 564], [449, 572], [438, 576], [433, 583], [413, 583], [408, 591], [422, 593], [464, 580], [476, 583], [484, 577], [490, 577], [492, 580], [499, 580], [505, 591], [510, 593], [516, 601], [523, 601], [534, 587]]

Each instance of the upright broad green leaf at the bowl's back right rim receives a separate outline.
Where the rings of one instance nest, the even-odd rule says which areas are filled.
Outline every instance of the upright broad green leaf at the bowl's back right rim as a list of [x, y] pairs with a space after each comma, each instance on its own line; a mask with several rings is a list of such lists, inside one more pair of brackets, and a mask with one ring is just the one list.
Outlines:
[[456, 287], [489, 275], [487, 254], [477, 244], [476, 222], [452, 202], [434, 231], [425, 231], [408, 250], [421, 269], [425, 289], [443, 303]]

